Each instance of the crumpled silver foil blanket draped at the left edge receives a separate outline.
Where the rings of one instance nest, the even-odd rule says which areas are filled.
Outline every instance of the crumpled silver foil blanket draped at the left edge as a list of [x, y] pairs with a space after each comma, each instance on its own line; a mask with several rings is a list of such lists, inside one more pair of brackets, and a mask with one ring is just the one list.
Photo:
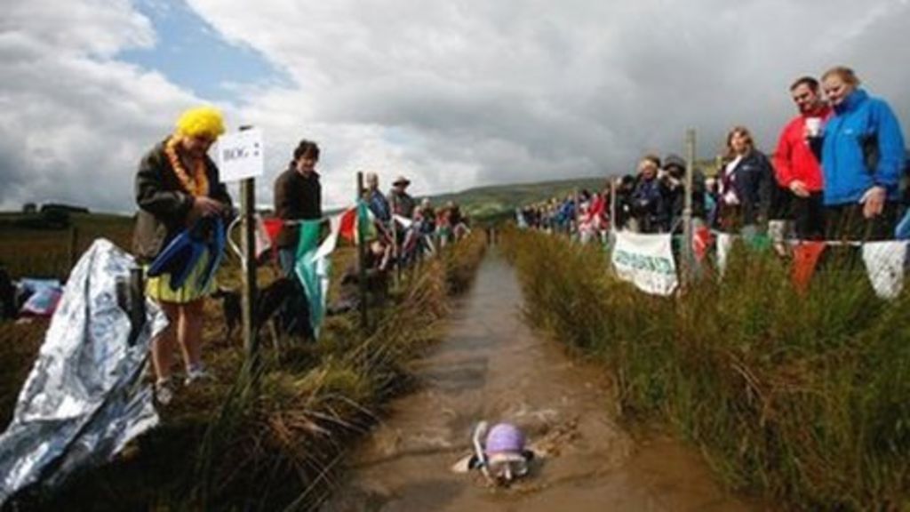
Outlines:
[[13, 421], [0, 435], [0, 505], [25, 486], [56, 486], [79, 468], [109, 461], [157, 425], [141, 375], [167, 317], [145, 298], [129, 303], [135, 267], [106, 240], [76, 263]]

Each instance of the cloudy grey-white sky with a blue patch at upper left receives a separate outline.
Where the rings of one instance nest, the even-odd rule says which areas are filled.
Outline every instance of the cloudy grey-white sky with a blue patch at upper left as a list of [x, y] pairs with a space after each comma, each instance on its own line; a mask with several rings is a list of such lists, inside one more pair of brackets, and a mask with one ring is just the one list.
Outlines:
[[263, 129], [257, 200], [299, 138], [327, 207], [357, 170], [415, 194], [605, 176], [647, 151], [761, 148], [836, 64], [910, 122], [906, 0], [0, 0], [0, 210], [134, 210], [183, 108]]

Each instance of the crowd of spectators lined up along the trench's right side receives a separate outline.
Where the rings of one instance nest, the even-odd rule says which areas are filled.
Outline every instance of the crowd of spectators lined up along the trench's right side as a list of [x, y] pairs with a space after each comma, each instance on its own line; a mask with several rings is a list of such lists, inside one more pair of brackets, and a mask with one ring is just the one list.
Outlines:
[[[908, 202], [904, 136], [888, 104], [859, 86], [848, 67], [833, 67], [821, 80], [794, 80], [790, 95], [798, 113], [770, 156], [757, 148], [749, 128], [731, 128], [711, 175], [693, 169], [693, 225], [743, 236], [764, 233], [778, 248], [786, 239], [897, 238]], [[686, 168], [678, 155], [648, 154], [634, 174], [608, 182], [601, 192], [582, 190], [531, 205], [521, 210], [520, 222], [577, 231], [582, 240], [613, 225], [678, 233]]]

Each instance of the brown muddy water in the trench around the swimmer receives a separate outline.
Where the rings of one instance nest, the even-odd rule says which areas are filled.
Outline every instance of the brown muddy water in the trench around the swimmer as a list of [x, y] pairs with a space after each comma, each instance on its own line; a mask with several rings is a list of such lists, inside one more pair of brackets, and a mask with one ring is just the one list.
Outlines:
[[[522, 323], [521, 290], [500, 256], [481, 264], [446, 329], [417, 364], [419, 390], [391, 404], [322, 510], [758, 509], [725, 492], [691, 447], [633, 441], [614, 419], [606, 370]], [[530, 476], [493, 488], [477, 471], [450, 470], [480, 419], [521, 426], [541, 455]]]

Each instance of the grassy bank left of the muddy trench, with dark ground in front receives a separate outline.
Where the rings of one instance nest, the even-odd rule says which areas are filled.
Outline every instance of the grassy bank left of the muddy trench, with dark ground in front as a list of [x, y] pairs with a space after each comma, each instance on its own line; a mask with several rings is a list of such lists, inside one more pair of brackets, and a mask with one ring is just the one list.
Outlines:
[[[215, 380], [181, 389], [163, 410], [163, 425], [112, 464], [75, 476], [51, 496], [26, 493], [18, 510], [314, 507], [331, 492], [351, 442], [410, 385], [410, 360], [436, 338], [448, 292], [467, 286], [484, 249], [483, 237], [474, 236], [405, 271], [388, 304], [371, 311], [372, 333], [362, 333], [351, 313], [329, 317], [319, 343], [282, 340], [276, 348], [264, 340], [256, 386], [243, 377], [237, 336], [223, 335], [220, 312], [209, 304], [205, 357]], [[350, 257], [340, 251], [333, 263], [342, 269]], [[0, 339], [18, 338], [15, 331], [26, 328], [34, 336], [41, 327], [2, 324]], [[38, 342], [28, 343], [10, 352], [15, 364], [30, 366], [34, 353], [27, 357], [25, 347]], [[5, 393], [13, 388], [7, 380]], [[0, 412], [8, 418], [15, 397], [3, 398]]]

